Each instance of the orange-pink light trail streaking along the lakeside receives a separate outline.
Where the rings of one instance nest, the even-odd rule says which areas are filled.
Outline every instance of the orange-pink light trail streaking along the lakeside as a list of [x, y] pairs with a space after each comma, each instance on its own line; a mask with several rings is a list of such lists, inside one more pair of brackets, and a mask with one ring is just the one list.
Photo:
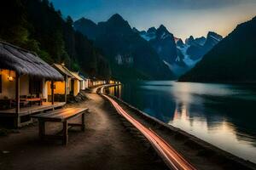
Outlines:
[[[103, 88], [105, 87], [101, 88], [101, 93], [103, 92]], [[177, 153], [177, 151], [174, 150], [170, 144], [167, 144], [164, 139], [160, 138], [159, 135], [154, 133], [152, 129], [144, 127], [143, 124], [137, 122], [137, 120], [130, 116], [126, 111], [124, 111], [116, 101], [109, 98], [105, 94], [102, 95], [112, 103], [114, 108], [119, 112], [119, 115], [124, 116], [127, 121], [131, 122], [134, 127], [137, 127], [137, 129], [143, 133], [150, 144], [152, 144], [154, 149], [166, 162], [168, 167], [175, 170], [195, 170], [195, 167], [193, 167], [189, 161], [186, 161], [183, 156]]]

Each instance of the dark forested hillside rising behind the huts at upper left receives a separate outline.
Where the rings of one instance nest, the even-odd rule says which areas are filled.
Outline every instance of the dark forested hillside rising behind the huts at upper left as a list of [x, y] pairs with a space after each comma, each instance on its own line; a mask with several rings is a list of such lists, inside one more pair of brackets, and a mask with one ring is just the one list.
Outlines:
[[36, 52], [49, 64], [65, 63], [90, 77], [109, 78], [108, 61], [78, 31], [70, 16], [63, 19], [48, 0], [11, 0], [1, 4], [0, 39]]

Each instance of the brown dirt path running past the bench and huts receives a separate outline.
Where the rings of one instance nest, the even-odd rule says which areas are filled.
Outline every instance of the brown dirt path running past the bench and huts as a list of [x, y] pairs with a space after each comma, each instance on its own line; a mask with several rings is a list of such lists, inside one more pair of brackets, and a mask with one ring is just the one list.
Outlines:
[[[112, 107], [97, 94], [88, 94], [85, 133], [69, 132], [69, 144], [40, 142], [38, 125], [0, 137], [1, 170], [40, 169], [167, 169], [139, 139], [125, 130]], [[53, 133], [60, 125], [50, 123]]]

